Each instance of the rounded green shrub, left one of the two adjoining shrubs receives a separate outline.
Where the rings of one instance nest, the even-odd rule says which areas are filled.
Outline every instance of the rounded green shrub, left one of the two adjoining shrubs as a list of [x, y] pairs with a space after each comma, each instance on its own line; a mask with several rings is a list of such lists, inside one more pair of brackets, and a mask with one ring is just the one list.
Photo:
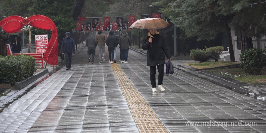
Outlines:
[[190, 51], [190, 58], [199, 61], [199, 62], [206, 62], [209, 61], [209, 54], [207, 51], [203, 51], [200, 49], [191, 50]]

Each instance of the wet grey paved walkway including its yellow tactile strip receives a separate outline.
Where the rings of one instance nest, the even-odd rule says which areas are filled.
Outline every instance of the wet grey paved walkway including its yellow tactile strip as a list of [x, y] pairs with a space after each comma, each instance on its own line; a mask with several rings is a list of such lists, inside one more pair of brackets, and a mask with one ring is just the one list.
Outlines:
[[78, 49], [71, 71], [0, 97], [15, 99], [0, 113], [0, 132], [265, 132], [264, 101], [182, 68], [164, 76], [166, 91], [153, 93], [144, 51], [130, 49], [128, 63], [112, 65], [108, 52], [99, 64], [97, 51], [95, 64]]

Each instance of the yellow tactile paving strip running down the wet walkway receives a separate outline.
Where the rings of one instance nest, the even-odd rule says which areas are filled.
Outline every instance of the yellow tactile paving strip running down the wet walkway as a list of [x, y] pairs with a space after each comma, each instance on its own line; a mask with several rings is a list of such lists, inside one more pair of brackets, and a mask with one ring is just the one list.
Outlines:
[[143, 133], [169, 133], [120, 66], [117, 63], [111, 64], [111, 66], [138, 130]]

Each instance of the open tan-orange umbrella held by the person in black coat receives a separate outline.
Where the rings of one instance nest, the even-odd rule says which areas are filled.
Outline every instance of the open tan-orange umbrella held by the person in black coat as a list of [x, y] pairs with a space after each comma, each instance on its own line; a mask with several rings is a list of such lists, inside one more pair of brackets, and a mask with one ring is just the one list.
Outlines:
[[129, 28], [157, 30], [166, 28], [168, 25], [170, 24], [161, 18], [145, 18], [137, 20]]

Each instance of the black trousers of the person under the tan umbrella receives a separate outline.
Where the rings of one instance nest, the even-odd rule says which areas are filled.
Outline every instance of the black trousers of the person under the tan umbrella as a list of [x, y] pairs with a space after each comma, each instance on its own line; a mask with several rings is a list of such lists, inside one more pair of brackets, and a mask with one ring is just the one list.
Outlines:
[[[158, 70], [158, 85], [162, 85], [163, 84], [163, 79], [164, 79], [164, 64], [158, 65], [157, 66], [157, 70]], [[152, 88], [156, 87], [156, 66], [150, 66], [150, 80], [151, 80], [151, 85]]]

